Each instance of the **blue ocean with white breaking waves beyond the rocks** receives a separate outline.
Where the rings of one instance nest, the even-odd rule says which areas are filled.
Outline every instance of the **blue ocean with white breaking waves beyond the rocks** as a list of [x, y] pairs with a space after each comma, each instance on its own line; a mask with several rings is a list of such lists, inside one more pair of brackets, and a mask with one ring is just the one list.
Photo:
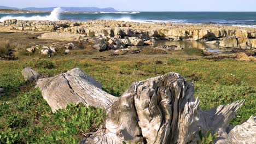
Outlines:
[[56, 8], [50, 14], [0, 14], [0, 21], [18, 20], [122, 20], [135, 22], [172, 22], [186, 24], [211, 24], [256, 28], [256, 12], [95, 12], [95, 13], [60, 13]]

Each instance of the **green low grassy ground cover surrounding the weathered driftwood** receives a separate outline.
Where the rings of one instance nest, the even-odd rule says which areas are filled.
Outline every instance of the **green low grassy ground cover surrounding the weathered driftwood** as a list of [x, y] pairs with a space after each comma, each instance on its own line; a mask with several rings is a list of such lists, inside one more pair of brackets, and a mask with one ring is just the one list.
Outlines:
[[[199, 60], [186, 61], [191, 57]], [[54, 76], [79, 67], [101, 82], [104, 91], [117, 97], [132, 82], [174, 71], [194, 82], [200, 109], [246, 99], [230, 125], [240, 124], [256, 115], [255, 62], [210, 61], [184, 51], [123, 56], [109, 56], [109, 52], [84, 55], [79, 51], [75, 55], [56, 55], [47, 59], [31, 55], [22, 56], [19, 61], [1, 61], [0, 87], [5, 89], [5, 95], [0, 98], [0, 143], [77, 143], [84, 134], [97, 130], [105, 116], [100, 109], [82, 105], [70, 105], [53, 114], [39, 89], [24, 81], [21, 70], [25, 67], [32, 67], [43, 76]]]

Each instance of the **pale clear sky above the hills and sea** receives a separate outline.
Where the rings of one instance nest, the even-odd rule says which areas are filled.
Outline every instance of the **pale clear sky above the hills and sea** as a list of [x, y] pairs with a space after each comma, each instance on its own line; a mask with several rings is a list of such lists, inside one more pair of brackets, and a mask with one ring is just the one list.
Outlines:
[[0, 0], [7, 7], [112, 7], [119, 11], [256, 11], [256, 0]]

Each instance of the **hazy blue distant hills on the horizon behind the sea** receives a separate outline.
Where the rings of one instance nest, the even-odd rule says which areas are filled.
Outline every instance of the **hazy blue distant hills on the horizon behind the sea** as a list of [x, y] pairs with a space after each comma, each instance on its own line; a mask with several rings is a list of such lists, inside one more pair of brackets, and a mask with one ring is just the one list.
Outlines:
[[[49, 8], [11, 8], [11, 7], [4, 7], [0, 6], [0, 9], [13, 9], [13, 10], [30, 10], [30, 11], [53, 11], [56, 7], [49, 7]], [[98, 12], [98, 11], [104, 11], [104, 12], [115, 12], [114, 8], [96, 8], [96, 7], [60, 7], [63, 11], [67, 12]]]

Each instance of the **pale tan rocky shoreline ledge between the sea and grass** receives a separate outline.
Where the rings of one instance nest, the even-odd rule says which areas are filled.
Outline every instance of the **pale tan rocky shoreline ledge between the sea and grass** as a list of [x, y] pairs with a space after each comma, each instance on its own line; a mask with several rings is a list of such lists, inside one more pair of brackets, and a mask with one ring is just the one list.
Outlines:
[[256, 49], [256, 28], [96, 21], [18, 21], [0, 22], [0, 32], [40, 33], [40, 39], [89, 41], [99, 51], [152, 45], [158, 40], [204, 41], [223, 48]]

